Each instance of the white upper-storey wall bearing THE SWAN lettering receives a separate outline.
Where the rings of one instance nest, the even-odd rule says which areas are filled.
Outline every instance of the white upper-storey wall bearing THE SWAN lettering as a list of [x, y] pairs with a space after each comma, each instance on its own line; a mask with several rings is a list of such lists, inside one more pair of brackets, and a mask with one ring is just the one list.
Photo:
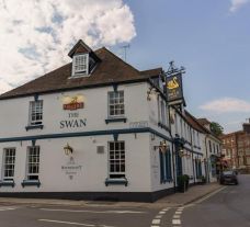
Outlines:
[[[107, 118], [107, 92], [113, 91], [113, 87], [39, 95], [39, 100], [43, 100], [44, 103], [44, 128], [27, 132], [25, 130], [25, 126], [29, 124], [29, 105], [30, 101], [34, 101], [34, 97], [1, 100], [0, 138], [129, 128], [132, 122], [148, 121], [146, 82], [118, 86], [118, 90], [124, 90], [125, 117], [127, 117], [127, 123], [111, 123], [109, 125], [105, 124], [105, 120]], [[83, 95], [84, 109], [64, 111], [64, 98], [77, 94]], [[69, 117], [69, 113], [78, 113], [79, 117]], [[87, 126], [60, 128], [60, 121], [76, 118], [86, 118]]]

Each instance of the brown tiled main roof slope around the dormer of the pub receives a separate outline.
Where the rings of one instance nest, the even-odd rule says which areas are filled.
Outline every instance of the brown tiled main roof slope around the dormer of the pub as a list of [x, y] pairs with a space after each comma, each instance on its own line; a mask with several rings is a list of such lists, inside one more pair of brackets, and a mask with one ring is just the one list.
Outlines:
[[88, 88], [92, 86], [110, 84], [122, 81], [143, 80], [150, 77], [156, 77], [160, 73], [159, 68], [140, 72], [107, 50], [105, 47], [102, 47], [94, 53], [101, 59], [101, 63], [98, 64], [89, 77], [70, 78], [72, 68], [72, 64], [70, 63], [1, 94], [0, 99], [24, 97], [34, 93], [54, 92], [57, 90]]

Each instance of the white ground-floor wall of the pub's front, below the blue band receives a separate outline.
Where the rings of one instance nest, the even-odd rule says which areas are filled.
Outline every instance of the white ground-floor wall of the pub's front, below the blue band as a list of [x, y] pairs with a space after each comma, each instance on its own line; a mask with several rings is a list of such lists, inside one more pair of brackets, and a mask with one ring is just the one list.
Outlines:
[[[128, 185], [109, 185], [104, 181], [109, 177], [107, 141], [113, 136], [76, 137], [58, 139], [41, 139], [36, 141], [41, 146], [39, 181], [41, 188], [25, 186], [21, 183], [25, 179], [26, 149], [31, 141], [14, 141], [0, 144], [0, 162], [2, 163], [2, 150], [7, 147], [15, 147], [16, 159], [14, 169], [15, 186], [2, 186], [0, 192], [150, 192], [150, 152], [149, 134], [120, 135], [118, 140], [125, 141], [126, 178]], [[69, 143], [73, 147], [73, 160], [81, 170], [76, 172], [72, 180], [70, 174], [63, 170], [70, 160], [63, 147]], [[104, 154], [96, 152], [96, 146], [104, 146]], [[1, 168], [2, 174], [2, 168]]]

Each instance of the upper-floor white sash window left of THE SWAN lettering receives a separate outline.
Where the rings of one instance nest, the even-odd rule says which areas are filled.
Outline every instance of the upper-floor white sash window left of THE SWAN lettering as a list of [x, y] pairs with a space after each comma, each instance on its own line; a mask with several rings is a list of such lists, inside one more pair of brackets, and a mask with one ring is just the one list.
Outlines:
[[30, 102], [30, 125], [43, 124], [43, 101]]

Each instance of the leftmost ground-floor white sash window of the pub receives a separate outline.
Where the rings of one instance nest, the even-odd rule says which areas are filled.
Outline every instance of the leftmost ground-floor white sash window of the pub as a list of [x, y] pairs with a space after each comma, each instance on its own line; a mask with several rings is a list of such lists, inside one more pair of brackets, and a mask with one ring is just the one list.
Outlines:
[[4, 180], [13, 180], [14, 178], [14, 163], [15, 163], [15, 148], [3, 149], [3, 175]]

